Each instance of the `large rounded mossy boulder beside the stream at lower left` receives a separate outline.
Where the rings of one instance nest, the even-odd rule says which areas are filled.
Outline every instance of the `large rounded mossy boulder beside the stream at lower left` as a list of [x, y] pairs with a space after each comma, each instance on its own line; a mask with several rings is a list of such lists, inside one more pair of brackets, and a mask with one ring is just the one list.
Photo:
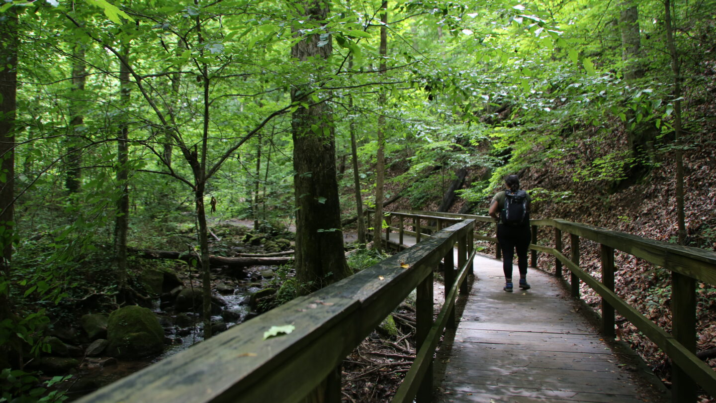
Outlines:
[[147, 308], [130, 305], [110, 314], [107, 326], [111, 356], [138, 359], [164, 349], [164, 329], [157, 316]]

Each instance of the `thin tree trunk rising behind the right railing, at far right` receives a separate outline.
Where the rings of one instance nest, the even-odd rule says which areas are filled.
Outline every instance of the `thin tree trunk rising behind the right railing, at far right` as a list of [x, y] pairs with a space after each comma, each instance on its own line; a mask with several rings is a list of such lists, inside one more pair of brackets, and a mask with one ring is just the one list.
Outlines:
[[681, 62], [679, 52], [674, 41], [674, 26], [671, 17], [671, 0], [664, 1], [664, 19], [667, 30], [667, 47], [672, 59], [672, 71], [674, 72], [674, 141], [676, 142], [676, 209], [677, 226], [679, 228], [679, 245], [686, 243], [686, 217], [684, 214], [684, 151], [683, 133], [681, 123]]

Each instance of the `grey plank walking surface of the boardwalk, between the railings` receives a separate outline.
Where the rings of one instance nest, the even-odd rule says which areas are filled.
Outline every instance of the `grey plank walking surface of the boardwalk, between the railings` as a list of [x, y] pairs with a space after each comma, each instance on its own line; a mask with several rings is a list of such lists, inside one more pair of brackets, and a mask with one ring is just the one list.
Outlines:
[[437, 402], [659, 401], [634, 384], [556, 278], [530, 269], [532, 288], [520, 290], [514, 267], [507, 293], [501, 260], [476, 255], [474, 267]]

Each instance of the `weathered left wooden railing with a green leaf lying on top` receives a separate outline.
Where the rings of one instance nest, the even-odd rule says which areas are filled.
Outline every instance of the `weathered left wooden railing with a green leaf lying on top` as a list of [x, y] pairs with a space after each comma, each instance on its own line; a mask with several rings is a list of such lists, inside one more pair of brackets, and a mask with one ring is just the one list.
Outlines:
[[[402, 217], [410, 217], [403, 214]], [[454, 221], [454, 220], [453, 220]], [[79, 402], [340, 402], [343, 359], [417, 289], [417, 355], [393, 402], [430, 402], [432, 356], [455, 328], [455, 298], [475, 250], [471, 219], [349, 278], [234, 326]], [[458, 244], [458, 269], [453, 245]], [[433, 321], [433, 271], [445, 267], [445, 303]], [[272, 326], [294, 330], [264, 339]]]

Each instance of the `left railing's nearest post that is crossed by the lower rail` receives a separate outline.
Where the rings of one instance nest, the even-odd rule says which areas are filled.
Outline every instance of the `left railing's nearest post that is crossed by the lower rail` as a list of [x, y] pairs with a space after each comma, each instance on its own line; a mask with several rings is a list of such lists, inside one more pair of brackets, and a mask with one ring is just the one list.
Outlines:
[[[425, 343], [427, 333], [432, 327], [432, 270], [428, 272], [425, 280], [417, 286], [417, 298], [415, 300], [415, 351]], [[432, 361], [427, 367], [425, 378], [420, 381], [420, 388], [417, 389], [415, 397], [417, 403], [430, 403], [432, 401]]]

